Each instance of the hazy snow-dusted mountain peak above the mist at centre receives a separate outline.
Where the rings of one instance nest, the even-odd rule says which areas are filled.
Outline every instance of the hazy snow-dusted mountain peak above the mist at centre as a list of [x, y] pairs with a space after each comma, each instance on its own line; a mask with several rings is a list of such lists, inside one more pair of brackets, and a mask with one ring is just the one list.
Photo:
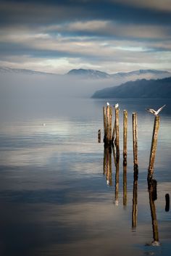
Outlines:
[[105, 72], [101, 72], [99, 70], [84, 70], [80, 68], [79, 70], [70, 70], [66, 75], [75, 75], [81, 78], [91, 78], [91, 79], [99, 79], [99, 78], [110, 78], [111, 76]]

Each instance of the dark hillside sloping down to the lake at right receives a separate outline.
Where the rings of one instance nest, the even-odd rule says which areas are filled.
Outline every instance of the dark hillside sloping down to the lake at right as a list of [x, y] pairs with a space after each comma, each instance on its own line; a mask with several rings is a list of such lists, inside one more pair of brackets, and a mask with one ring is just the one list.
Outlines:
[[171, 98], [171, 77], [135, 80], [96, 91], [92, 98]]

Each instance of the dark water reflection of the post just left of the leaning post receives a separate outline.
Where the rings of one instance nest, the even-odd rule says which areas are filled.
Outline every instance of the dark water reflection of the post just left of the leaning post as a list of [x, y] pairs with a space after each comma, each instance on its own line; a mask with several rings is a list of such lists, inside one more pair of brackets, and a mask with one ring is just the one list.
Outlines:
[[133, 211], [132, 211], [132, 228], [135, 230], [137, 226], [138, 215], [138, 167], [134, 165], [133, 173]]

